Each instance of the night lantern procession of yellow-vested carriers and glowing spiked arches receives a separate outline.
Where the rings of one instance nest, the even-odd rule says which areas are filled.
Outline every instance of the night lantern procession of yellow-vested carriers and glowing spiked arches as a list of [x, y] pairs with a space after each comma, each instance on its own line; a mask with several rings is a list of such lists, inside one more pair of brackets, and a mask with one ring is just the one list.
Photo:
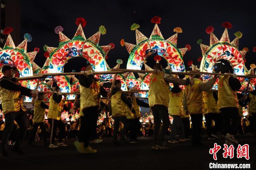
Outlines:
[[[6, 37], [0, 48], [3, 157], [26, 155], [31, 147], [33, 152], [44, 147], [58, 157], [54, 150], [71, 145], [77, 154], [97, 155], [100, 144], [132, 149], [144, 138], [150, 140], [148, 149], [154, 153], [172, 152], [179, 143], [200, 148], [206, 147], [206, 141], [213, 146], [216, 140], [239, 146], [244, 136], [255, 141], [256, 60], [246, 67], [245, 58], [256, 47], [239, 47], [240, 39], [246, 40], [240, 31], [229, 34], [230, 22], [219, 22], [221, 37], [214, 34], [217, 28], [206, 27], [202, 33], [208, 34], [210, 43], [198, 39], [193, 48], [201, 50], [202, 57], [189, 58], [188, 63], [184, 58], [191, 40], [180, 36], [187, 45], [179, 45], [178, 35], [183, 31], [172, 23], [173, 30], [165, 32], [170, 37], [164, 38], [159, 27], [168, 21], [160, 16], [144, 21], [151, 22], [150, 36], [133, 23], [129, 31], [134, 32], [136, 43], [126, 42], [129, 38], [122, 35], [120, 44], [108, 39], [109, 44], [101, 46], [100, 39], [108, 34], [105, 26], [89, 37], [84, 27], [100, 23], [87, 24], [86, 17], [66, 22], [76, 24], [76, 31], [57, 26], [54, 41], [59, 37], [59, 45], [35, 45], [34, 51], [27, 50], [32, 41], [29, 33], [15, 45], [15, 28], [1, 30]], [[74, 37], [68, 38], [65, 30], [73, 31]], [[128, 53], [113, 61], [108, 53], [117, 46]], [[39, 51], [44, 56], [38, 56]], [[35, 63], [36, 57], [45, 60], [42, 67]], [[72, 72], [64, 71], [74, 58], [83, 58], [83, 67], [72, 65]], [[107, 63], [110, 60], [116, 64], [113, 68]]]

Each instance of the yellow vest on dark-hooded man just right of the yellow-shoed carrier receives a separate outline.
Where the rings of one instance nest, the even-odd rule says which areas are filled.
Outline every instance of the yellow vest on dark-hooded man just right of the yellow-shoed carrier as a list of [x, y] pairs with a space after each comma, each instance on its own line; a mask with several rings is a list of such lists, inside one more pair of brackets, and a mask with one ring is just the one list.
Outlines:
[[133, 115], [128, 106], [123, 102], [121, 98], [121, 93], [123, 91], [119, 90], [114, 95], [111, 96], [111, 108], [112, 108], [112, 117], [122, 117], [126, 116], [127, 119], [132, 119]]

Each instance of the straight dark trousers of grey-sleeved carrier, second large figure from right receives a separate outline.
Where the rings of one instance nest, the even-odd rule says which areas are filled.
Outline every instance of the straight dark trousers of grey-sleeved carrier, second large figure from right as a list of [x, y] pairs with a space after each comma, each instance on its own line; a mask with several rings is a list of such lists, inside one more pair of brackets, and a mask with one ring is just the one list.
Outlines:
[[203, 113], [200, 114], [191, 114], [192, 121], [192, 143], [202, 142], [202, 121], [203, 121]]

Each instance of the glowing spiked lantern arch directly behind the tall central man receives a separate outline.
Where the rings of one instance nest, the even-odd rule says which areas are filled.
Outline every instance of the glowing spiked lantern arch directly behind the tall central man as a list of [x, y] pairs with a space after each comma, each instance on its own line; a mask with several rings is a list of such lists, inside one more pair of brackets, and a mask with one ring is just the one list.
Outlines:
[[[131, 30], [135, 30], [136, 33], [136, 45], [124, 42], [124, 39], [121, 40], [121, 45], [125, 46], [129, 52], [129, 59], [127, 62], [127, 69], [141, 70], [142, 65], [144, 64], [146, 70], [152, 70], [149, 66], [145, 64], [148, 57], [160, 57], [164, 58], [168, 66], [174, 72], [185, 72], [185, 65], [183, 62], [184, 54], [191, 49], [190, 45], [186, 45], [185, 48], [177, 47], [177, 38], [178, 33], [182, 32], [180, 27], [174, 28], [176, 34], [170, 36], [168, 39], [164, 39], [161, 31], [159, 30], [158, 24], [160, 23], [161, 18], [155, 16], [151, 19], [151, 23], [154, 23], [153, 32], [150, 35], [150, 38], [147, 38], [143, 35], [138, 28], [139, 24], [132, 24]], [[148, 90], [149, 89], [149, 77], [151, 74], [139, 74], [140, 77], [140, 89]], [[147, 97], [147, 93], [141, 93], [142, 97]]]

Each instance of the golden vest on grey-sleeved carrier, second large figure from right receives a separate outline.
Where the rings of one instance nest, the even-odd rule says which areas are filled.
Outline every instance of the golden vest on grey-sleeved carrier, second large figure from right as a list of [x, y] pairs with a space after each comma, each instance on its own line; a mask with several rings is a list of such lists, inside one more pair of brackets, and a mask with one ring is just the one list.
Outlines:
[[[199, 89], [201, 80], [196, 79], [195, 84], [192, 86], [190, 99], [187, 99], [188, 112], [190, 114], [204, 113], [204, 98], [203, 92]], [[191, 85], [186, 86], [186, 96], [188, 97]]]

